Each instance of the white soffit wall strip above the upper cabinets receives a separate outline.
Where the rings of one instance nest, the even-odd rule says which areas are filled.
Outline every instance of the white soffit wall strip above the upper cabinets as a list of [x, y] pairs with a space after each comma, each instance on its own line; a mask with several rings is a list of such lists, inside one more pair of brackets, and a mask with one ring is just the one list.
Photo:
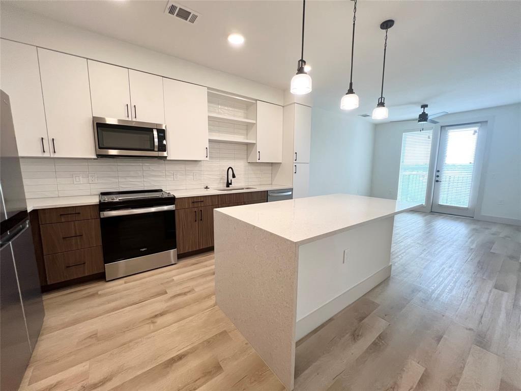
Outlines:
[[282, 105], [283, 91], [2, 4], [0, 36]]

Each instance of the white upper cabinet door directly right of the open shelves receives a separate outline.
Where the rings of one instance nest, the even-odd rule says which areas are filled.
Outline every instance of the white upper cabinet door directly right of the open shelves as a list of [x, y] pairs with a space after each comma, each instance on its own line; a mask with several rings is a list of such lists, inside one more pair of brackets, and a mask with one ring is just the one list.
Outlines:
[[257, 101], [257, 161], [282, 162], [282, 106]]

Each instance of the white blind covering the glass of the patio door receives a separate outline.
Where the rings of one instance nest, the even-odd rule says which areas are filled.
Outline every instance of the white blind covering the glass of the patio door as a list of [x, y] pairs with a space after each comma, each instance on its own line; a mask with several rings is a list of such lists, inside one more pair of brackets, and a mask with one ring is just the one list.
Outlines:
[[440, 169], [439, 205], [468, 207], [479, 126], [446, 129]]

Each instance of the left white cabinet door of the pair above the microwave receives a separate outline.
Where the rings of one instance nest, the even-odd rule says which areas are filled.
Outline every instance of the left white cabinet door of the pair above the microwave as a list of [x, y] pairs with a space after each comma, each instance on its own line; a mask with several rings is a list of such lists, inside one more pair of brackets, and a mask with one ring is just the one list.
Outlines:
[[129, 70], [87, 60], [91, 87], [92, 115], [130, 119]]

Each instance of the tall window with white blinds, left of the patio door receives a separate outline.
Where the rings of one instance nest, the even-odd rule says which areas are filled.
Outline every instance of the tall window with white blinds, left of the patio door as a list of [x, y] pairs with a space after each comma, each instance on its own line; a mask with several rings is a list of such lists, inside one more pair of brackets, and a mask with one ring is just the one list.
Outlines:
[[425, 204], [431, 141], [432, 129], [403, 133], [398, 182], [399, 201]]

